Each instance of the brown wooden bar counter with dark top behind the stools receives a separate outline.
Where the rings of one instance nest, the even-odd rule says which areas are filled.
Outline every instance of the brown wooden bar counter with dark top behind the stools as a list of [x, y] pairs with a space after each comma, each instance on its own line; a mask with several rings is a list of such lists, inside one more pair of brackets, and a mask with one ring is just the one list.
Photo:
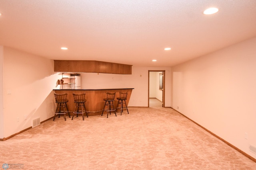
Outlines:
[[128, 92], [126, 104], [128, 105], [130, 96], [132, 94], [132, 89], [134, 88], [114, 88], [114, 89], [54, 89], [54, 92], [56, 94], [64, 94], [67, 93], [67, 99], [68, 99], [68, 109], [70, 113], [72, 113], [75, 109], [74, 104], [74, 98], [73, 93], [75, 94], [81, 94], [85, 93], [85, 107], [88, 111], [88, 115], [95, 115], [95, 114], [101, 114], [101, 111], [104, 107], [105, 101], [103, 98], [106, 98], [106, 93], [114, 93], [116, 92], [114, 106], [116, 107], [118, 100], [116, 100], [117, 97], [119, 97], [119, 92]]

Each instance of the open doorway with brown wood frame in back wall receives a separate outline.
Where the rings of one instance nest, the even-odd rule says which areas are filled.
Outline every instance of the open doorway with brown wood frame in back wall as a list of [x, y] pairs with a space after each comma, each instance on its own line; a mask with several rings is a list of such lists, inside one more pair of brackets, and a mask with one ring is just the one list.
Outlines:
[[148, 70], [148, 107], [164, 107], [165, 70]]

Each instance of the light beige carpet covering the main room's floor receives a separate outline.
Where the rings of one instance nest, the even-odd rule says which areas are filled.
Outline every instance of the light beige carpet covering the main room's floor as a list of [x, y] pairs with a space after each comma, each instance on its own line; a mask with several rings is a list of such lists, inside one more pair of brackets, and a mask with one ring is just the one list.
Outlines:
[[49, 120], [0, 142], [0, 164], [31, 170], [256, 170], [256, 163], [171, 108], [130, 107]]

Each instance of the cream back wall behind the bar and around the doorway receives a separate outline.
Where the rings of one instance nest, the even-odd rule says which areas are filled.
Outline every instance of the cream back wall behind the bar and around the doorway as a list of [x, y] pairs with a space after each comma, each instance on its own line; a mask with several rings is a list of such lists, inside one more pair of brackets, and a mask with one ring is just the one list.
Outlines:
[[134, 88], [128, 106], [148, 107], [148, 70], [166, 70], [165, 107], [171, 106], [171, 68], [134, 67], [132, 74], [82, 73], [82, 89]]

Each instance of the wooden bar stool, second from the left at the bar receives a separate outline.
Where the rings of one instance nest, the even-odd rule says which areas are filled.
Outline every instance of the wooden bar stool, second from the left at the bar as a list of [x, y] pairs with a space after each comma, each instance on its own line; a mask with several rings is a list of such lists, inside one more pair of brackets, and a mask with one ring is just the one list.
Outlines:
[[74, 103], [76, 104], [76, 107], [73, 112], [72, 120], [75, 114], [76, 114], [76, 117], [78, 117], [78, 114], [82, 114], [82, 117], [84, 120], [84, 113], [86, 113], [86, 116], [88, 117], [87, 111], [85, 109], [85, 104], [84, 104], [86, 102], [85, 93], [82, 93], [82, 94], [73, 93], [73, 97], [74, 97]]

